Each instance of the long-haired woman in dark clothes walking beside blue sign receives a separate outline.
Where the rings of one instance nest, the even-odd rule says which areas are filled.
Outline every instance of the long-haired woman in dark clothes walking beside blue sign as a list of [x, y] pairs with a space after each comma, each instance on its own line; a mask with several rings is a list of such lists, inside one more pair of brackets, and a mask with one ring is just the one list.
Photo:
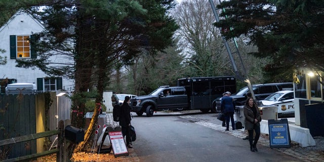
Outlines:
[[[249, 131], [249, 142], [251, 151], [258, 151], [257, 142], [260, 137], [260, 121], [261, 115], [259, 108], [254, 104], [252, 97], [248, 97], [244, 106], [245, 128]], [[255, 131], [255, 139], [253, 143], [253, 130]]]

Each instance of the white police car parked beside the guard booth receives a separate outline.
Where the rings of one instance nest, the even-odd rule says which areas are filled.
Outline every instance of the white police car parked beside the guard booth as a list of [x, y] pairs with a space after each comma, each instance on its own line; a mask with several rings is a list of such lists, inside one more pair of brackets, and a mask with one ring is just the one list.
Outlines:
[[278, 107], [278, 118], [295, 117], [294, 91], [278, 91], [261, 100], [263, 105]]

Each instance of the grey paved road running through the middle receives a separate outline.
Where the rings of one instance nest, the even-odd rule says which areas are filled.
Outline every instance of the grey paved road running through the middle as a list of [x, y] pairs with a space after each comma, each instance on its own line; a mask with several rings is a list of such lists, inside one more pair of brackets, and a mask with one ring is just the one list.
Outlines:
[[158, 112], [152, 117], [134, 114], [137, 140], [130, 161], [304, 161], [258, 144], [251, 152], [242, 130], [224, 131], [217, 114], [185, 115]]

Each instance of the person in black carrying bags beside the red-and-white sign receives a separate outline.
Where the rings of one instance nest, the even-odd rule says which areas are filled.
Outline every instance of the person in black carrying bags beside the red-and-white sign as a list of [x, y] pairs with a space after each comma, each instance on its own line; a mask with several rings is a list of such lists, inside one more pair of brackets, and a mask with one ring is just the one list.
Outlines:
[[121, 126], [121, 133], [123, 137], [126, 136], [126, 145], [128, 148], [133, 148], [131, 145], [131, 107], [130, 107], [130, 97], [126, 96], [123, 105], [121, 105], [119, 125]]

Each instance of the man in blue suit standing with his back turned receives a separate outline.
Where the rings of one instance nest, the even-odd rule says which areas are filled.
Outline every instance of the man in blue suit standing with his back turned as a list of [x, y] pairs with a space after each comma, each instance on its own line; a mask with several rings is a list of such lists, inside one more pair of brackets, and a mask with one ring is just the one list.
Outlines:
[[[227, 94], [227, 95], [225, 95]], [[229, 119], [231, 120], [232, 124], [232, 130], [235, 130], [235, 124], [234, 124], [234, 108], [235, 104], [233, 102], [233, 98], [229, 97], [231, 95], [230, 92], [223, 93], [222, 100], [221, 100], [221, 109], [223, 110], [223, 113], [225, 114], [226, 119], [226, 130], [229, 131]]]

